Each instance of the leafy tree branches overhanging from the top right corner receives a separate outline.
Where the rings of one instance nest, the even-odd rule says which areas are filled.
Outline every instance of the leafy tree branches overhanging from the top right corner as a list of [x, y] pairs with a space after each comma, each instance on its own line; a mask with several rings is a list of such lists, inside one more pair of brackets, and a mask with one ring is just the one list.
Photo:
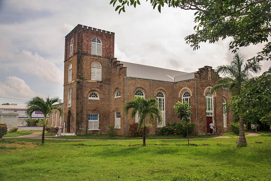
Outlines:
[[[112, 3], [119, 13], [125, 12], [126, 6], [140, 5], [139, 0], [111, 0]], [[214, 43], [231, 37], [229, 48], [235, 53], [240, 46], [268, 42], [271, 35], [271, 0], [150, 0], [150, 3], [159, 12], [164, 5], [196, 11], [195, 33], [185, 38], [194, 50], [201, 42]], [[251, 60], [271, 60], [270, 51], [271, 42]]]

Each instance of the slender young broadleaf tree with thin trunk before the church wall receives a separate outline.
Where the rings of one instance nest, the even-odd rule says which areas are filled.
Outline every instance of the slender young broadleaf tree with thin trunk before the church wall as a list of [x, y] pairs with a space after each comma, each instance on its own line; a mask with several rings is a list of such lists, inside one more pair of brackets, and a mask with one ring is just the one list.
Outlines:
[[193, 115], [191, 112], [191, 106], [189, 106], [188, 102], [177, 102], [175, 106], [173, 106], [175, 109], [175, 113], [178, 114], [178, 118], [182, 121], [182, 123], [186, 124], [186, 133], [187, 133], [187, 141], [189, 146], [189, 136], [188, 136], [188, 124], [191, 121], [191, 116]]

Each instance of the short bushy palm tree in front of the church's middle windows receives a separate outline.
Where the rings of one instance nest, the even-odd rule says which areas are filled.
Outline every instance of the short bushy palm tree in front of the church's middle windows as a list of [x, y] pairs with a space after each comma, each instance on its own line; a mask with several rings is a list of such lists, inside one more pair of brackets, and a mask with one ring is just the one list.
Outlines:
[[[158, 106], [158, 101], [155, 98], [144, 99], [142, 97], [135, 97], [133, 100], [127, 101], [124, 105], [124, 113], [128, 115], [128, 110], [132, 108], [131, 118], [135, 118], [135, 115], [138, 114], [138, 130], [143, 128], [143, 146], [146, 145], [146, 116], [150, 117], [150, 122], [154, 120], [154, 117], [157, 117], [157, 124], [162, 123], [162, 113]], [[149, 123], [150, 123], [149, 122]]]

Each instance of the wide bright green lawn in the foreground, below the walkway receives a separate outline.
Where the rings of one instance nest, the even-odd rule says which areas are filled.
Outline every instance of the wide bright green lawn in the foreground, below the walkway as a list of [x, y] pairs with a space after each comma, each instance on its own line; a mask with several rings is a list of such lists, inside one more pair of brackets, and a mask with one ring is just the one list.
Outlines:
[[[1, 180], [270, 180], [271, 132], [238, 138], [69, 141], [0, 139]], [[199, 145], [210, 143], [212, 145]]]

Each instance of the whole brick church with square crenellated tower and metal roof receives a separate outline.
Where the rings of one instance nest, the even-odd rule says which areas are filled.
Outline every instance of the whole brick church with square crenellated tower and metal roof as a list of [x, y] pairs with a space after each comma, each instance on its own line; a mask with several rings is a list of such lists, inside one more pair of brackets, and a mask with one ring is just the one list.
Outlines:
[[153, 122], [150, 134], [167, 122], [180, 121], [173, 109], [177, 101], [190, 103], [195, 135], [209, 133], [210, 121], [219, 133], [228, 130], [232, 113], [225, 113], [223, 105], [231, 93], [221, 90], [210, 94], [217, 81], [212, 67], [187, 73], [118, 61], [114, 57], [114, 35], [78, 24], [65, 37], [66, 132], [107, 134], [108, 124], [114, 123], [118, 135], [128, 135], [129, 125], [137, 122], [137, 117], [131, 119], [130, 114], [126, 117], [123, 106], [135, 96], [157, 98], [159, 102], [163, 123]]

